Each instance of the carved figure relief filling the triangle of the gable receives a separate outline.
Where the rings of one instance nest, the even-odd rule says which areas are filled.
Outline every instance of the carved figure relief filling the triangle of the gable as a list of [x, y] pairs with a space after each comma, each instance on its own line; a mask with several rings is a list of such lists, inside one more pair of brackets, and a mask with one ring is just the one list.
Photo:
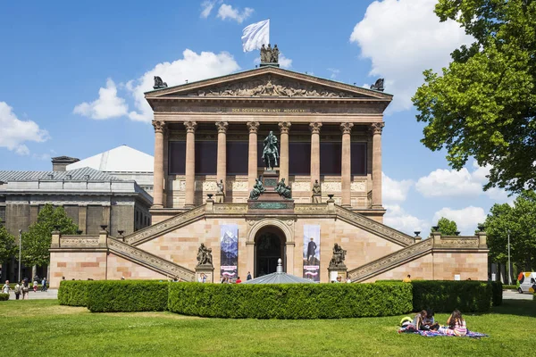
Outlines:
[[229, 83], [219, 87], [198, 89], [188, 96], [306, 96], [353, 98], [363, 95], [341, 92], [329, 87], [284, 78], [264, 77], [247, 82]]

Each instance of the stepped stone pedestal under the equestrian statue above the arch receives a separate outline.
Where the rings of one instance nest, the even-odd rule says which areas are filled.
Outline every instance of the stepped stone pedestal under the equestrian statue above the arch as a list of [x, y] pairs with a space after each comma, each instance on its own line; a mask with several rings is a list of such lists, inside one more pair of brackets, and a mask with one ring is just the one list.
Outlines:
[[279, 174], [275, 170], [264, 170], [262, 193], [256, 200], [247, 200], [247, 212], [254, 214], [293, 214], [294, 200], [281, 197], [275, 191]]

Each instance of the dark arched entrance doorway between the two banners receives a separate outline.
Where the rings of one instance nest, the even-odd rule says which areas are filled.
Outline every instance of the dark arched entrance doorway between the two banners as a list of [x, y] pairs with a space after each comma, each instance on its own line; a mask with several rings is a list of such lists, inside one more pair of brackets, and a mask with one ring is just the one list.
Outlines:
[[277, 227], [262, 228], [255, 236], [255, 278], [274, 273], [281, 258], [286, 270], [285, 234]]

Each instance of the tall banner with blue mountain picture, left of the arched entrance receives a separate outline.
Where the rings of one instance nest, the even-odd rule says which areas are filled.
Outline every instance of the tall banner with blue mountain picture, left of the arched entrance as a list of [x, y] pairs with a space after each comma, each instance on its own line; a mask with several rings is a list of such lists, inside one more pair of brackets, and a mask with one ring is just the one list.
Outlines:
[[220, 226], [220, 276], [236, 279], [239, 272], [239, 225]]

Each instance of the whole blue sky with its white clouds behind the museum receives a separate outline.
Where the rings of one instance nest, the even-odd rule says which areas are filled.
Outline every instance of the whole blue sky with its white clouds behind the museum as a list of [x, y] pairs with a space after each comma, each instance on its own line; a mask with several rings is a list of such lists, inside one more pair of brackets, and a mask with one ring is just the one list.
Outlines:
[[[255, 67], [242, 29], [271, 19], [287, 68], [358, 86], [385, 78], [395, 101], [383, 130], [386, 223], [428, 233], [440, 216], [473, 233], [498, 189], [486, 168], [449, 170], [421, 143], [410, 97], [471, 41], [440, 23], [434, 0], [8, 2], [0, 10], [0, 170], [49, 170], [50, 157], [85, 158], [118, 145], [153, 154], [140, 95], [154, 73], [169, 85]], [[212, 5], [212, 8], [211, 8]], [[211, 8], [211, 11], [208, 11]], [[147, 87], [149, 86], [149, 87]], [[100, 93], [99, 93], [100, 90]], [[145, 112], [144, 112], [145, 111]]]

